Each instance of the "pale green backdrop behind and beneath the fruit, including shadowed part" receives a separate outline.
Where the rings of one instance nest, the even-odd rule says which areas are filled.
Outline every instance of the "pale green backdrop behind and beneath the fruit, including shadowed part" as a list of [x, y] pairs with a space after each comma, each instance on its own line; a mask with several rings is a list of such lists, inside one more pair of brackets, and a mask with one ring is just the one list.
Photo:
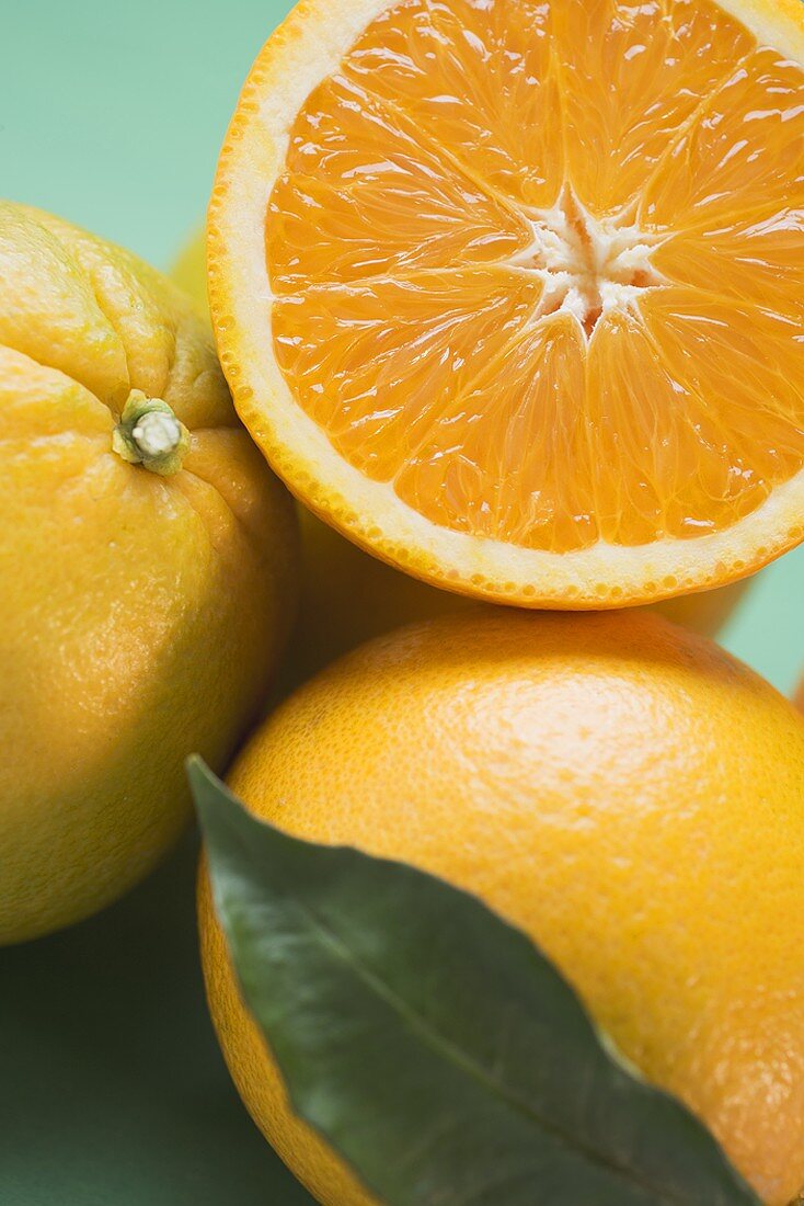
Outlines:
[[[0, 0], [0, 194], [168, 267], [200, 222], [251, 60], [284, 5]], [[726, 644], [790, 690], [804, 550]], [[4, 1206], [303, 1206], [227, 1081], [194, 949], [192, 843], [71, 933], [0, 953]]]

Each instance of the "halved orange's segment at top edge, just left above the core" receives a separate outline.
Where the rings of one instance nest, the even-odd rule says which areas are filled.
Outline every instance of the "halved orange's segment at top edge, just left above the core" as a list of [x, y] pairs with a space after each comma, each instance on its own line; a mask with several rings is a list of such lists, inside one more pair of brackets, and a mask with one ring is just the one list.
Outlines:
[[483, 191], [550, 205], [563, 178], [551, 27], [550, 6], [534, 0], [407, 4], [371, 23], [344, 70]]

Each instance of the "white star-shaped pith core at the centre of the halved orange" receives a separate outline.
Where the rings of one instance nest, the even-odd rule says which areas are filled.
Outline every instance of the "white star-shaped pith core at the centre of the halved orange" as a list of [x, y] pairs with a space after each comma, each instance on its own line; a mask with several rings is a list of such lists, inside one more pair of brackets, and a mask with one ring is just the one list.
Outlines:
[[640, 230], [630, 207], [598, 219], [564, 188], [552, 209], [527, 221], [533, 241], [509, 264], [541, 279], [536, 318], [571, 314], [588, 339], [609, 310], [633, 309], [645, 289], [668, 283], [651, 262], [662, 239]]

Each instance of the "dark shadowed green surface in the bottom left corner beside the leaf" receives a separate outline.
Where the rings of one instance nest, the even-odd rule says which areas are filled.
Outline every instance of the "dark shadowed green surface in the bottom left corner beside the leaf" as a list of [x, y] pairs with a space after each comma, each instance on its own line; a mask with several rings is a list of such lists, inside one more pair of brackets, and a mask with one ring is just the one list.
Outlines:
[[242, 1107], [198, 958], [198, 837], [123, 901], [0, 949], [0, 1201], [312, 1206]]

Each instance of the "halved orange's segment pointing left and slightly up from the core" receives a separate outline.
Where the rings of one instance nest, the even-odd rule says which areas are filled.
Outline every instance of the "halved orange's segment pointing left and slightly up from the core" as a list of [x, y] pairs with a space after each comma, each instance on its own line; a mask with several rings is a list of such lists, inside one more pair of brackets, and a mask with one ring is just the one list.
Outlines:
[[266, 232], [277, 292], [413, 268], [504, 260], [527, 246], [503, 207], [415, 123], [336, 76], [291, 134]]

